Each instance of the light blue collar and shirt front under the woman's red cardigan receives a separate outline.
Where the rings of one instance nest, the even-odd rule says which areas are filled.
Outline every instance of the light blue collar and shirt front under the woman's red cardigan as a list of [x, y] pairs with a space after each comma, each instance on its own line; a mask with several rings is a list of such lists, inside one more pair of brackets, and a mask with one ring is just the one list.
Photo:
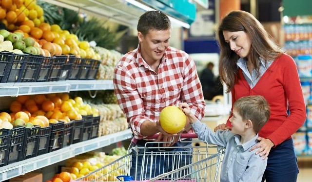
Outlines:
[[264, 74], [264, 72], [266, 72], [267, 69], [273, 63], [273, 60], [272, 61], [264, 61], [263, 58], [259, 58], [259, 62], [260, 62], [260, 69], [259, 69], [260, 77], [258, 77], [255, 69], [253, 69], [252, 74], [249, 73], [248, 68], [247, 68], [246, 58], [239, 58], [236, 62], [236, 65], [240, 69], [242, 69], [244, 77], [245, 77], [246, 81], [248, 82], [248, 84], [251, 88], [253, 88], [254, 85], [260, 80], [260, 78]]

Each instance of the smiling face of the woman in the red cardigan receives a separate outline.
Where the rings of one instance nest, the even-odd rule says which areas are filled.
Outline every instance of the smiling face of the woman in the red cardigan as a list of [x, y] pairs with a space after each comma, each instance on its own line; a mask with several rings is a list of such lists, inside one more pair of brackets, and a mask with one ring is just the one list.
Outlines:
[[233, 50], [239, 57], [249, 59], [251, 52], [251, 41], [248, 38], [246, 32], [230, 32], [223, 31], [224, 40], [229, 44], [231, 50]]

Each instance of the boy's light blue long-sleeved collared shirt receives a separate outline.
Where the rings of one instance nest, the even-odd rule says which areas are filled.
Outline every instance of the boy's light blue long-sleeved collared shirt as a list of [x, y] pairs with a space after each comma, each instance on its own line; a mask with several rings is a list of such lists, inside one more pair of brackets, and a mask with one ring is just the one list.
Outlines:
[[252, 140], [240, 144], [240, 136], [230, 130], [213, 132], [200, 121], [191, 126], [199, 140], [225, 147], [220, 182], [261, 182], [267, 158], [263, 160], [259, 154], [255, 155], [257, 149], [249, 152], [257, 143], [258, 134]]

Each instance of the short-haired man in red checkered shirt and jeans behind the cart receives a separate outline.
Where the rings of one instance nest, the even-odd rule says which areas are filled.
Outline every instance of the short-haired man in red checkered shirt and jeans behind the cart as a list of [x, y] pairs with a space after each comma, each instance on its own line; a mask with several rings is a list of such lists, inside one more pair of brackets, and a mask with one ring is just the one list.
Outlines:
[[[194, 61], [184, 51], [169, 46], [171, 28], [171, 22], [164, 13], [144, 13], [137, 24], [137, 49], [121, 58], [114, 70], [113, 81], [119, 106], [134, 135], [130, 146], [144, 147], [146, 142], [151, 142], [144, 138], [159, 133], [157, 142], [167, 142], [163, 144], [165, 147], [190, 146], [190, 154], [191, 143], [178, 141], [179, 133], [193, 132], [188, 121], [184, 130], [176, 134], [166, 133], [159, 124], [160, 111], [169, 105], [177, 105], [183, 101], [189, 103], [198, 120], [204, 116], [205, 109]], [[148, 151], [154, 150], [158, 151]], [[176, 147], [171, 151], [185, 151], [185, 148]], [[170, 161], [170, 157], [162, 156], [161, 159], [153, 161], [145, 159], [143, 162], [143, 156], [138, 155], [141, 152], [133, 150], [132, 155], [130, 175], [136, 180], [143, 180], [145, 176], [157, 176], [192, 160], [192, 155], [183, 155], [180, 162], [177, 162], [179, 166], [164, 166], [156, 161]], [[185, 159], [187, 157], [189, 159]], [[153, 164], [152, 167], [150, 163]]]

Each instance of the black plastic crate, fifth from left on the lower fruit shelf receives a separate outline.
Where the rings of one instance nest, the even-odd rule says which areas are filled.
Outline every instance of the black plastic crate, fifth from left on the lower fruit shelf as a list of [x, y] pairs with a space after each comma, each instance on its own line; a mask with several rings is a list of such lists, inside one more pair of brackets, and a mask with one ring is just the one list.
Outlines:
[[49, 143], [49, 152], [52, 152], [63, 148], [64, 122], [59, 121], [59, 123], [50, 123], [50, 125], [52, 126], [52, 130]]

